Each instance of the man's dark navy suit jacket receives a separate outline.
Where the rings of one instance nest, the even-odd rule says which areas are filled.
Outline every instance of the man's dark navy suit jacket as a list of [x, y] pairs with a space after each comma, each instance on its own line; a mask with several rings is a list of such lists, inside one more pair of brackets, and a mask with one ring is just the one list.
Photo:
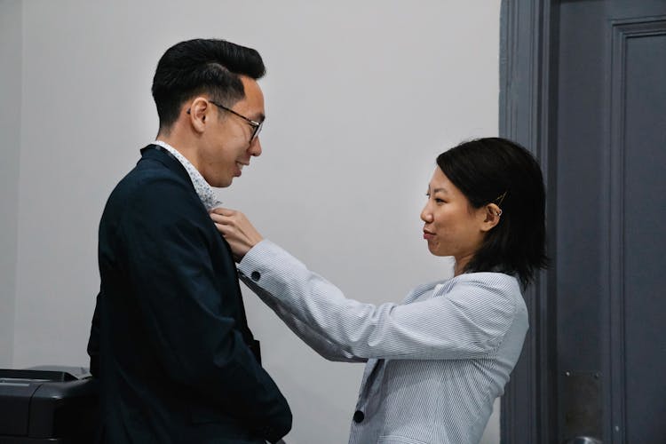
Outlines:
[[99, 224], [92, 321], [103, 442], [258, 443], [291, 412], [251, 348], [238, 274], [183, 166], [142, 150]]

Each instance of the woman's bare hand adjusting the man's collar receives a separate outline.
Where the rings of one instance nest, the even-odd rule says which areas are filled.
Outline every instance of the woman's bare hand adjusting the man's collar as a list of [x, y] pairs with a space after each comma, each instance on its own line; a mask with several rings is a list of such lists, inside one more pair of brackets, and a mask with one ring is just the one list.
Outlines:
[[241, 211], [215, 208], [210, 211], [210, 218], [229, 242], [236, 262], [241, 262], [245, 254], [264, 239]]

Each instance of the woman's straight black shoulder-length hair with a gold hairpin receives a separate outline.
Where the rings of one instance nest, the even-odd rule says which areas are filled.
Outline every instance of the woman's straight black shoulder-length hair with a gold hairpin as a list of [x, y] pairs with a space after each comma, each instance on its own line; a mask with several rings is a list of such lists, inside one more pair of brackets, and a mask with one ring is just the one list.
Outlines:
[[545, 187], [535, 157], [511, 140], [487, 138], [445, 151], [437, 164], [473, 208], [495, 202], [502, 210], [464, 272], [515, 274], [526, 287], [548, 265]]

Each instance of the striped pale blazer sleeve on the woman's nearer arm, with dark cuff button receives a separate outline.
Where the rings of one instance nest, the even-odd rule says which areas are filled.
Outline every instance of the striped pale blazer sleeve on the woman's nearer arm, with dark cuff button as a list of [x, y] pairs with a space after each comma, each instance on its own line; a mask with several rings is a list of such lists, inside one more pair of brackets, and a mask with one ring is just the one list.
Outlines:
[[[465, 359], [494, 353], [516, 312], [514, 278], [459, 280], [453, 288], [405, 305], [347, 298], [297, 258], [264, 240], [239, 271], [319, 336], [364, 359]], [[487, 276], [488, 277], [488, 276]]]

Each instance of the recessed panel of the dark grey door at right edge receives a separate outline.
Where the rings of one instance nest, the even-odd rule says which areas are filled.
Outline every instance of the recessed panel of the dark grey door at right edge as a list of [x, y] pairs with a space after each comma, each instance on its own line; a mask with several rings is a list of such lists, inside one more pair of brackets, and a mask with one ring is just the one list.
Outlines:
[[624, 168], [613, 181], [623, 186], [625, 436], [666, 442], [666, 20], [622, 28]]

